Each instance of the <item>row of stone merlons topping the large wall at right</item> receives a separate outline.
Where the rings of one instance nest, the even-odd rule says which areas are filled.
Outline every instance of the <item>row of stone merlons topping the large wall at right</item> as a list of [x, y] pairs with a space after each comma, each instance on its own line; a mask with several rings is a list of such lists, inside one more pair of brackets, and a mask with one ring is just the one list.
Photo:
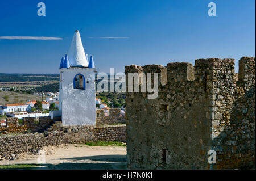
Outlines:
[[[208, 58], [195, 60], [195, 66], [187, 62], [168, 63], [162, 65], [130, 65], [126, 66], [126, 73], [159, 73], [159, 82], [161, 85], [174, 82], [195, 81], [203, 82], [217, 81], [225, 79], [235, 82], [234, 78], [234, 59], [232, 58]], [[242, 57], [239, 61], [239, 81], [252, 81], [255, 83], [255, 57]], [[250, 77], [249, 77], [250, 75]], [[164, 81], [167, 77], [167, 82]]]

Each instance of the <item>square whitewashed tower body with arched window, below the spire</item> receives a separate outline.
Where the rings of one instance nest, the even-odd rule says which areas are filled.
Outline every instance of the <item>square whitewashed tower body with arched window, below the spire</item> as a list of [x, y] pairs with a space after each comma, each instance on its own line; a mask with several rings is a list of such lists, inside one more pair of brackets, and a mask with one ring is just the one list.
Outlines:
[[[63, 71], [60, 82], [61, 119], [63, 125], [95, 125], [95, 71], [93, 68], [69, 68]], [[85, 77], [85, 90], [73, 89], [76, 74]]]

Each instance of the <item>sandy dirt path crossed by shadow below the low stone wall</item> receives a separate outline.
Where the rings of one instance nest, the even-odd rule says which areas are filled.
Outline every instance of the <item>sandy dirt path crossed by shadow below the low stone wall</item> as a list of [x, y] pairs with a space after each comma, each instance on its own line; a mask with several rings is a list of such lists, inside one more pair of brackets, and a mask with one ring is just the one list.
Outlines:
[[[62, 144], [44, 147], [46, 162], [37, 169], [126, 169], [126, 147]], [[2, 160], [0, 165], [37, 164], [39, 155], [24, 154], [23, 159]], [[42, 158], [42, 156], [40, 156]]]

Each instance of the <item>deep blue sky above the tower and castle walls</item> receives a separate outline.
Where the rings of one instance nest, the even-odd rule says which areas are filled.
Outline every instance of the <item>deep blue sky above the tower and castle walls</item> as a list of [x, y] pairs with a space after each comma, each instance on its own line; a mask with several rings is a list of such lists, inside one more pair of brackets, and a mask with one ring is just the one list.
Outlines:
[[[37, 15], [39, 2], [46, 16]], [[217, 16], [208, 16], [209, 2]], [[242, 56], [255, 56], [255, 1], [0, 1], [0, 36], [63, 39], [1, 39], [0, 72], [59, 73], [75, 30], [98, 71], [220, 57], [235, 58], [238, 72]]]

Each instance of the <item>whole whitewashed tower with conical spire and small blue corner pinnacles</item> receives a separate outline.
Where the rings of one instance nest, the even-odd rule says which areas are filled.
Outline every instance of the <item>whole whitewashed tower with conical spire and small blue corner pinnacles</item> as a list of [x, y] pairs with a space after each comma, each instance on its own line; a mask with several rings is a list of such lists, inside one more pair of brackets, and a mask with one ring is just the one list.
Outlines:
[[96, 124], [96, 69], [92, 63], [88, 66], [80, 33], [76, 30], [71, 47], [60, 63], [60, 113], [63, 125]]

